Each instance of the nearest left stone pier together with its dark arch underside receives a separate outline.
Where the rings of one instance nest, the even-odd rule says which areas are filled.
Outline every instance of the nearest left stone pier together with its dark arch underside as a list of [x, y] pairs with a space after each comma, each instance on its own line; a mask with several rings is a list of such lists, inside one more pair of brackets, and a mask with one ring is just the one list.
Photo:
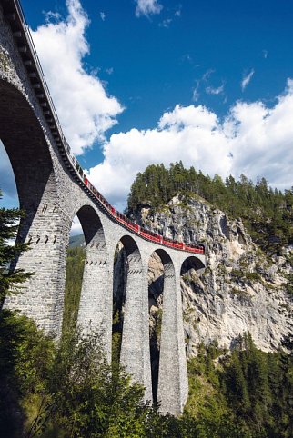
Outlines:
[[22, 294], [5, 306], [32, 317], [46, 333], [61, 333], [66, 268], [66, 231], [59, 208], [56, 175], [45, 132], [25, 96], [0, 79], [0, 138], [15, 174], [20, 208], [25, 210], [17, 240], [30, 243], [15, 265], [34, 275]]

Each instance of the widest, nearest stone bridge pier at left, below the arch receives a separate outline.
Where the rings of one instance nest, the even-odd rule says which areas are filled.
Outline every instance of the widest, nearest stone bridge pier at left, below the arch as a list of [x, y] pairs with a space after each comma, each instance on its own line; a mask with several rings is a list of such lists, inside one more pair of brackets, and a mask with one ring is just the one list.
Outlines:
[[19, 309], [33, 318], [45, 333], [59, 338], [62, 331], [66, 281], [66, 248], [71, 221], [57, 204], [54, 174], [51, 174], [38, 205], [35, 196], [27, 194], [21, 207], [27, 215], [22, 219], [17, 240], [30, 244], [21, 254], [16, 267], [31, 272], [19, 294], [5, 300], [5, 308]]

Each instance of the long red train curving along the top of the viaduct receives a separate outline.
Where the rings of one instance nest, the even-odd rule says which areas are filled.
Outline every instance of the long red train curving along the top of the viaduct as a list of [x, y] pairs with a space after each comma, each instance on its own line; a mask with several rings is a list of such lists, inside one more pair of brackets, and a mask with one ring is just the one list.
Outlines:
[[183, 242], [177, 242], [176, 240], [168, 239], [167, 237], [163, 237], [162, 235], [158, 235], [152, 233], [149, 230], [146, 230], [140, 225], [137, 225], [134, 222], [130, 221], [124, 214], [117, 212], [116, 209], [106, 201], [105, 197], [96, 190], [94, 185], [88, 181], [76, 158], [74, 158], [73, 161], [76, 166], [77, 173], [80, 175], [80, 179], [86, 185], [86, 188], [92, 194], [94, 194], [99, 203], [102, 204], [102, 206], [106, 209], [106, 212], [114, 217], [117, 222], [123, 224], [129, 230], [135, 232], [136, 234], [139, 234], [141, 237], [151, 242], [164, 244], [166, 246], [169, 246], [170, 248], [187, 251], [188, 253], [205, 254], [205, 246], [203, 244], [184, 244]]

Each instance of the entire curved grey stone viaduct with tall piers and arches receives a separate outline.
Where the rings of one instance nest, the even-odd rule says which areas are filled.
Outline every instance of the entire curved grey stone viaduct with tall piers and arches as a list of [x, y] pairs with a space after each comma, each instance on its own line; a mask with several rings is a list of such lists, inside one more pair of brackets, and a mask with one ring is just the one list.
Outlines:
[[190, 264], [204, 267], [205, 256], [150, 242], [116, 221], [88, 190], [62, 133], [18, 0], [0, 0], [0, 139], [26, 212], [18, 239], [31, 244], [17, 266], [35, 273], [25, 292], [5, 305], [34, 318], [45, 333], [60, 336], [66, 248], [77, 215], [86, 238], [78, 323], [103, 333], [110, 358], [113, 266], [121, 242], [128, 270], [121, 363], [145, 386], [146, 400], [152, 400], [147, 270], [157, 252], [164, 265], [158, 400], [162, 412], [181, 413], [188, 383], [180, 274]]

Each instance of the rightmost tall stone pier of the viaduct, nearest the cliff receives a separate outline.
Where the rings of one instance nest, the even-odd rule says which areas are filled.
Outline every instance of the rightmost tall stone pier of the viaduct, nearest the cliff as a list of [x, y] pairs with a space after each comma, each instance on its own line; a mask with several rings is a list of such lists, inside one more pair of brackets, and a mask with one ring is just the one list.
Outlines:
[[180, 284], [171, 256], [163, 249], [156, 253], [164, 266], [157, 401], [163, 413], [177, 415], [182, 413], [188, 393]]

